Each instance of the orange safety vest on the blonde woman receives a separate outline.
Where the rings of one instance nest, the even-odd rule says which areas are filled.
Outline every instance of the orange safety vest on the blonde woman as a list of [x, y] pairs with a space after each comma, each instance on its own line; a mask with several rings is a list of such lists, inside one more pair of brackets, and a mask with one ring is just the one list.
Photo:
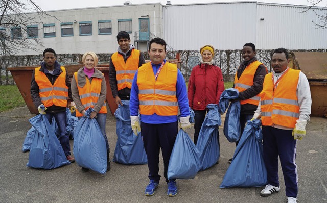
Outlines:
[[[78, 84], [77, 72], [74, 73], [74, 77], [76, 84]], [[92, 78], [92, 82], [90, 83], [90, 81], [86, 78], [86, 84], [84, 85], [84, 87], [80, 87], [77, 85], [81, 103], [84, 106], [85, 110], [90, 107], [93, 108], [97, 104], [101, 92], [101, 82], [102, 79], [100, 78]], [[107, 113], [106, 101], [104, 101], [104, 104], [101, 107], [99, 113]], [[80, 117], [83, 116], [83, 114], [78, 112], [76, 109], [76, 116]]]

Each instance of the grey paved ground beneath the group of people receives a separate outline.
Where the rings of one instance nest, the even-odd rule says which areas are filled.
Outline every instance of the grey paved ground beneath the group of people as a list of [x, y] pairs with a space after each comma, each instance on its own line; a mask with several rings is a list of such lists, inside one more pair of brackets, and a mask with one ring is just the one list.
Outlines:
[[[199, 172], [195, 179], [177, 180], [178, 195], [168, 197], [164, 179], [152, 197], [144, 195], [148, 184], [147, 165], [122, 165], [111, 162], [107, 174], [82, 173], [73, 163], [53, 170], [26, 167], [29, 153], [22, 153], [22, 142], [33, 117], [27, 107], [0, 113], [0, 202], [287, 202], [281, 169], [281, 192], [261, 197], [259, 188], [220, 189], [235, 144], [220, 131], [220, 163]], [[116, 144], [115, 118], [107, 118], [111, 148]], [[193, 138], [194, 130], [188, 131]], [[71, 147], [73, 148], [73, 141]], [[162, 158], [160, 175], [163, 176]], [[297, 143], [298, 202], [327, 202], [327, 119], [312, 117], [307, 136]]]

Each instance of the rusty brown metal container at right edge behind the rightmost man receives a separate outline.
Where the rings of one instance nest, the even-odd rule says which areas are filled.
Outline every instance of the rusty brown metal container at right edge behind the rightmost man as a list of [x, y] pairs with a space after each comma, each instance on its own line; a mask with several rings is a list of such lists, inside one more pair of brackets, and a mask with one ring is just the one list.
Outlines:
[[305, 73], [310, 84], [311, 116], [327, 117], [327, 53], [294, 52], [290, 67]]

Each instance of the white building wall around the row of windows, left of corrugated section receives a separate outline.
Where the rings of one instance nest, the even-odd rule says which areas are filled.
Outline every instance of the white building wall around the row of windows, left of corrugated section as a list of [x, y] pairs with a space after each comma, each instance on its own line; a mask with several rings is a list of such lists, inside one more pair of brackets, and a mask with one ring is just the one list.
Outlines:
[[[139, 31], [139, 18], [149, 15], [150, 32], [156, 31], [156, 36], [162, 37], [162, 5], [140, 4], [140, 5], [124, 5], [113, 7], [83, 8], [70, 9], [60, 11], [49, 11], [49, 15], [53, 17], [45, 17], [42, 23], [38, 23], [39, 40], [41, 44], [37, 48], [53, 48], [56, 53], [84, 53], [94, 51], [96, 53], [114, 53], [118, 44], [116, 35], [118, 34], [118, 19], [132, 19], [133, 32]], [[31, 14], [35, 15], [35, 14]], [[74, 22], [74, 36], [61, 36], [61, 22]], [[111, 20], [112, 34], [99, 35], [98, 20]], [[80, 36], [79, 22], [92, 21], [92, 35]], [[43, 37], [43, 24], [55, 23], [56, 37]], [[35, 23], [32, 23], [35, 24]], [[134, 44], [134, 33], [129, 33], [131, 44]], [[33, 40], [31, 40], [33, 42]], [[40, 54], [35, 50], [25, 50], [21, 55]]]

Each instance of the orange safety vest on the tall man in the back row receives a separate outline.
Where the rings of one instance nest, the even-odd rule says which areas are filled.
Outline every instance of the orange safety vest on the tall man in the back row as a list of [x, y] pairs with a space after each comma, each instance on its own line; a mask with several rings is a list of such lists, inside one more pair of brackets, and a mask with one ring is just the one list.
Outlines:
[[112, 63], [116, 69], [116, 79], [118, 90], [132, 87], [133, 78], [138, 69], [139, 50], [132, 49], [131, 56], [127, 58], [126, 63], [124, 57], [118, 52], [111, 56]]

